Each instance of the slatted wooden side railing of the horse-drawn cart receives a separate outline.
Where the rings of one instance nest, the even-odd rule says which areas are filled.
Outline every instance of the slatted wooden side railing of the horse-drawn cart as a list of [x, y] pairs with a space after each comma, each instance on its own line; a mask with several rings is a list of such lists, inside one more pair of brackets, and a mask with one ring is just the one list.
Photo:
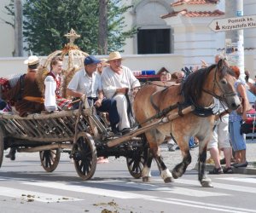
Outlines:
[[[80, 115], [78, 130], [87, 131], [88, 117], [93, 114], [93, 108], [84, 109]], [[61, 111], [44, 114], [31, 114], [26, 118], [19, 115], [0, 114], [0, 124], [7, 135], [28, 141], [73, 141], [78, 110]]]

